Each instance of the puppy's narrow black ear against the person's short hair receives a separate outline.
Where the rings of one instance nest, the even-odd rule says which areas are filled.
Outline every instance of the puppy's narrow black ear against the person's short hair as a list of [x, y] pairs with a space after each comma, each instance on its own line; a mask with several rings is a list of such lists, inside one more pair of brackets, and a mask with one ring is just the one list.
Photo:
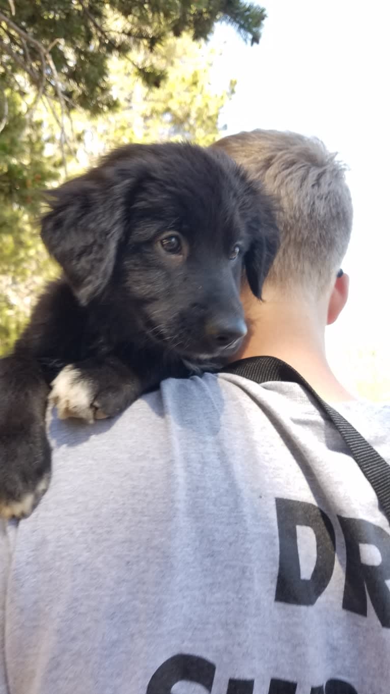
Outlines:
[[280, 246], [275, 205], [269, 196], [257, 193], [257, 210], [251, 215], [252, 243], [244, 256], [246, 278], [252, 293], [262, 298], [262, 287]]

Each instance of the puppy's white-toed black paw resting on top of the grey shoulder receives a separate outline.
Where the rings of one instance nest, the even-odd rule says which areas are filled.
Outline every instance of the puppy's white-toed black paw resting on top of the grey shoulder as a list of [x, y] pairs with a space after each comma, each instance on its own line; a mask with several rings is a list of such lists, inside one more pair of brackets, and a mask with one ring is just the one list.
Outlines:
[[158, 368], [140, 374], [114, 356], [85, 359], [60, 371], [51, 384], [49, 401], [61, 419], [76, 417], [92, 423], [123, 412], [160, 380]]

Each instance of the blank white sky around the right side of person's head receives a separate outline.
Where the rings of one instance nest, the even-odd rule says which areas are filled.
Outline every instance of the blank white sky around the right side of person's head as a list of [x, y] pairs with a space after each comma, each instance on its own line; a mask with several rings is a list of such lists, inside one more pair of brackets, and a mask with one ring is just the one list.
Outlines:
[[216, 78], [237, 79], [223, 112], [226, 134], [296, 130], [320, 137], [348, 164], [355, 221], [343, 268], [351, 278], [350, 300], [328, 328], [328, 353], [348, 384], [355, 378], [347, 373], [348, 355], [373, 348], [390, 379], [390, 3], [263, 4], [268, 18], [259, 46], [246, 46], [227, 26], [214, 35], [223, 51]]

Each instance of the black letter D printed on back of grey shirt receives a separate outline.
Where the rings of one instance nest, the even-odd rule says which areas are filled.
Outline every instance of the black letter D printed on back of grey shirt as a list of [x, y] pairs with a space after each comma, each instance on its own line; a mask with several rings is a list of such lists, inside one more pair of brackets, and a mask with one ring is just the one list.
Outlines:
[[[279, 532], [279, 573], [275, 600], [313, 605], [330, 582], [334, 568], [334, 530], [330, 519], [314, 504], [276, 499]], [[316, 563], [309, 579], [300, 577], [296, 529], [312, 528], [316, 538]]]

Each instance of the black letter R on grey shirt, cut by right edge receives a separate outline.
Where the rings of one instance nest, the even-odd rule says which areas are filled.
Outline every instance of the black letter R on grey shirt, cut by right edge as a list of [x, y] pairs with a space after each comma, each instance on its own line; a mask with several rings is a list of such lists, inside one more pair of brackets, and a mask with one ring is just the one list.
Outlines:
[[[366, 589], [382, 627], [390, 628], [390, 536], [379, 525], [339, 516], [346, 541], [346, 583], [343, 607], [367, 616]], [[362, 564], [360, 544], [374, 545], [380, 552], [379, 566]], [[365, 585], [364, 585], [365, 584]]]

